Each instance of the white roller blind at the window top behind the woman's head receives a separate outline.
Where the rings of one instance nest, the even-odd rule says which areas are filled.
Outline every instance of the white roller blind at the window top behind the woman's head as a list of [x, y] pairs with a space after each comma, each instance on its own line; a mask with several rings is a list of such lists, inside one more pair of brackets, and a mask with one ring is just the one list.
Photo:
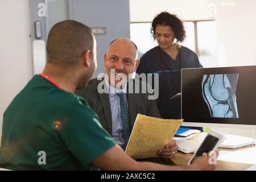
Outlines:
[[151, 22], [156, 14], [168, 11], [183, 20], [212, 19], [211, 0], [130, 0], [130, 21]]

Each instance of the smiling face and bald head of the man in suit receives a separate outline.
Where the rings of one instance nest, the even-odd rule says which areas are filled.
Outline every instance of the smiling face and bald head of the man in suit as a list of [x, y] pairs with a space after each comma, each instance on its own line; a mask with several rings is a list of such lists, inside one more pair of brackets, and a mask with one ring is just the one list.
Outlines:
[[[139, 65], [138, 51], [129, 39], [117, 39], [105, 53], [104, 65], [111, 85], [116, 86], [118, 82], [122, 81], [120, 76], [125, 76], [125, 82], [127, 82], [130, 79], [129, 74], [136, 71]], [[114, 79], [113, 82], [110, 81], [112, 79]]]

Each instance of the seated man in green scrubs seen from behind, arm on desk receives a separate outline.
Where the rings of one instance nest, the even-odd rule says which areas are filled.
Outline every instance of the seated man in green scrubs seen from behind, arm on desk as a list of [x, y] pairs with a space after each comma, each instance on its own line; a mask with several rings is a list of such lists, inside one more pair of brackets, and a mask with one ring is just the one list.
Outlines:
[[47, 64], [14, 98], [3, 115], [0, 167], [109, 170], [214, 169], [202, 156], [191, 166], [136, 162], [115, 144], [87, 102], [73, 94], [97, 68], [89, 27], [65, 20], [52, 27]]

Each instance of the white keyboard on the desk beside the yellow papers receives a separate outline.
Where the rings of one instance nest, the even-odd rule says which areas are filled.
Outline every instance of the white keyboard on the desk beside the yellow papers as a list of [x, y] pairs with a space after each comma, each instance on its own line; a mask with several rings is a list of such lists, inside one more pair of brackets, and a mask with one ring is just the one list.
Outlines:
[[191, 140], [181, 139], [177, 140], [177, 146], [179, 147], [178, 150], [184, 152], [185, 154], [192, 154], [194, 153], [197, 148], [199, 148], [201, 143], [192, 142]]

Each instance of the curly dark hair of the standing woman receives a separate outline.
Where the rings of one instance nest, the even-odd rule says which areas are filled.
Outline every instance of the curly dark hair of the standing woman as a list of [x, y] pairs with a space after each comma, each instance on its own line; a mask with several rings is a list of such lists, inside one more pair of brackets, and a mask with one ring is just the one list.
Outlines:
[[183, 42], [186, 37], [183, 22], [181, 22], [176, 15], [172, 15], [166, 11], [156, 15], [151, 25], [151, 33], [153, 36], [155, 36], [155, 27], [158, 25], [170, 26], [174, 31], [177, 42]]

